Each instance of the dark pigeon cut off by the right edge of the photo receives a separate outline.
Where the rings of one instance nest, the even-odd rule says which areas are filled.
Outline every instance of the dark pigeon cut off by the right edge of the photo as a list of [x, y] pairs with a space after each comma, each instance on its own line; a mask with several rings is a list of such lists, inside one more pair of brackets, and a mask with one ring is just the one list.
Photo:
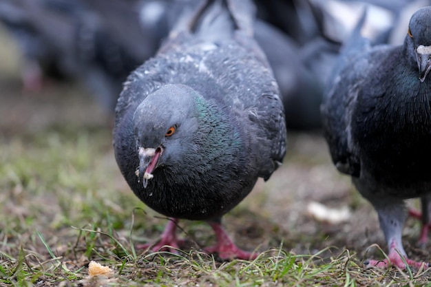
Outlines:
[[388, 258], [368, 266], [430, 266], [408, 259], [401, 242], [405, 200], [429, 198], [431, 180], [431, 7], [414, 12], [402, 45], [371, 45], [357, 28], [342, 48], [322, 102], [324, 137], [335, 167], [374, 206]]

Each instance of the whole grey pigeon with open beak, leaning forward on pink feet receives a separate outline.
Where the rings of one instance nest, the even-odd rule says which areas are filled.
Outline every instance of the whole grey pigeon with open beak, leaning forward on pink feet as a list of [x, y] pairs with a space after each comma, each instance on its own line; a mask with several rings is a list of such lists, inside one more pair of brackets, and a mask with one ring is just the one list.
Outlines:
[[184, 7], [157, 54], [124, 84], [113, 129], [116, 162], [134, 194], [171, 218], [153, 251], [180, 246], [178, 220], [202, 220], [217, 239], [205, 251], [253, 259], [229, 238], [221, 218], [282, 163], [279, 88], [253, 39], [253, 3]]

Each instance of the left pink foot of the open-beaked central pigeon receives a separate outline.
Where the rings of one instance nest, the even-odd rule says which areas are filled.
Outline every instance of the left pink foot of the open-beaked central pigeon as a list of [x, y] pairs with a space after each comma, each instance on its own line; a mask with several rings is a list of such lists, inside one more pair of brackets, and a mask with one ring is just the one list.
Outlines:
[[184, 240], [178, 240], [176, 237], [176, 226], [178, 219], [174, 218], [167, 222], [165, 231], [160, 236], [160, 240], [156, 244], [138, 244], [138, 249], [149, 249], [151, 251], [169, 251], [171, 253], [178, 253], [178, 248], [184, 243]]

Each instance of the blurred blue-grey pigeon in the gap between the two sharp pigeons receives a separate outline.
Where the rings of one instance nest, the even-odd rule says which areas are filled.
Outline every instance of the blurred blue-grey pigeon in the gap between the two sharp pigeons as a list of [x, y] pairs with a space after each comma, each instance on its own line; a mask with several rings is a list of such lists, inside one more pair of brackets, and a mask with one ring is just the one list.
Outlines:
[[[313, 67], [306, 67], [299, 45], [275, 26], [260, 20], [255, 21], [254, 29], [255, 39], [266, 54], [280, 87], [286, 127], [319, 129], [324, 84], [312, 72], [317, 61]], [[314, 60], [316, 56], [313, 54]]]

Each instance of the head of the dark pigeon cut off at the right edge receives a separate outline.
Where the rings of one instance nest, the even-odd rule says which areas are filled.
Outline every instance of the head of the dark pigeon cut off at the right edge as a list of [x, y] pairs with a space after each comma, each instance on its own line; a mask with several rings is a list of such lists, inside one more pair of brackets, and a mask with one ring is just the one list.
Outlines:
[[419, 80], [425, 81], [431, 70], [431, 6], [414, 12], [410, 19], [406, 41], [412, 61], [419, 68]]

